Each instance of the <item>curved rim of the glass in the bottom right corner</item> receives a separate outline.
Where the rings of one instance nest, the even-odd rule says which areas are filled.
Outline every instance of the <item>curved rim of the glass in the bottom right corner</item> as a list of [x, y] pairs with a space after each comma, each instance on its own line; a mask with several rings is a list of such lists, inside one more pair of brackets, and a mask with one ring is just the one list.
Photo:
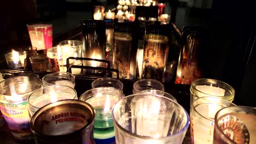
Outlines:
[[[256, 107], [250, 107], [250, 106], [229, 106], [229, 107], [223, 107], [222, 109], [220, 109], [220, 110], [218, 110], [217, 112], [216, 112], [216, 115], [214, 116], [214, 127], [216, 127], [216, 129], [219, 131], [219, 133], [221, 134], [221, 135], [223, 135], [224, 137], [225, 137], [225, 140], [227, 140], [229, 143], [231, 143], [231, 144], [236, 144], [236, 142], [235, 141], [233, 141], [233, 140], [231, 140], [221, 129], [220, 129], [220, 127], [219, 127], [219, 124], [218, 124], [218, 115], [219, 115], [219, 113], [222, 111], [222, 110], [225, 110], [225, 109], [232, 109], [232, 108], [235, 108], [235, 109], [250, 109], [250, 110], [255, 110], [255, 112], [256, 112]], [[231, 112], [230, 112], [231, 113]], [[240, 112], [236, 112], [236, 113], [240, 113]], [[228, 113], [226, 113], [226, 114], [228, 114]], [[249, 113], [245, 113], [245, 114], [247, 114], [247, 115], [249, 115]], [[222, 115], [223, 116], [223, 115]], [[221, 116], [219, 116], [219, 117], [221, 117]], [[215, 129], [215, 128], [214, 128]], [[222, 138], [223, 139], [223, 138]]]

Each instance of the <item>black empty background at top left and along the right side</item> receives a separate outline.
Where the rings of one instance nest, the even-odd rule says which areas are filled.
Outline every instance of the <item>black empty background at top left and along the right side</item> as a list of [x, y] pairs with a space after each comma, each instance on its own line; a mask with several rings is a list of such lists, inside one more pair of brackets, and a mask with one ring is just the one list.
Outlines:
[[[165, 13], [183, 26], [202, 26], [210, 30], [210, 45], [205, 51], [206, 78], [229, 83], [235, 88], [237, 105], [254, 106], [255, 71], [255, 1], [172, 0], [165, 1]], [[207, 4], [210, 3], [210, 7]], [[117, 1], [89, 0], [8, 0], [0, 1], [0, 57], [21, 45], [31, 45], [27, 23], [51, 22], [53, 34], [91, 19], [93, 5], [115, 8]]]

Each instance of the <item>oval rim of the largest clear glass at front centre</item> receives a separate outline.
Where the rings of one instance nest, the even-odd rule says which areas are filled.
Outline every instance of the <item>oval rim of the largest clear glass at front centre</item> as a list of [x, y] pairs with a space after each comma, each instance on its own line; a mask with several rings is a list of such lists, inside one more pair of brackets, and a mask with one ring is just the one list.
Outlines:
[[[149, 95], [149, 94], [148, 94]], [[180, 104], [178, 104], [176, 101], [170, 99], [170, 98], [167, 98], [167, 97], [164, 97], [162, 95], [158, 95], [158, 94], [150, 94], [150, 95], [153, 95], [155, 97], [161, 97], [161, 98], [164, 98], [164, 99], [168, 99], [168, 100], [171, 100], [174, 104], [178, 105], [179, 107], [181, 107], [183, 109], [183, 112], [185, 114], [185, 116], [187, 116], [187, 122], [186, 124], [184, 125], [184, 127], [179, 130], [177, 133], [173, 134], [173, 135], [170, 135], [170, 136], [166, 136], [166, 137], [159, 137], [158, 139], [155, 139], [155, 140], [166, 140], [166, 139], [170, 139], [170, 137], [177, 137], [179, 135], [181, 135], [182, 133], [184, 133], [184, 131], [187, 131], [188, 127], [189, 127], [189, 115], [188, 115], [188, 112], [184, 109], [184, 107]], [[142, 135], [136, 135], [136, 134], [133, 134], [131, 133], [131, 131], [128, 131], [126, 130], [125, 128], [121, 127], [121, 125], [117, 122], [117, 120], [115, 119], [115, 116], [114, 116], [114, 109], [115, 109], [115, 106], [117, 106], [118, 103], [121, 103], [121, 101], [125, 100], [125, 99], [128, 99], [128, 98], [131, 98], [131, 97], [142, 97], [142, 96], [145, 96], [145, 93], [136, 93], [136, 94], [131, 94], [131, 95], [128, 95], [126, 97], [124, 97], [123, 99], [119, 100], [113, 107], [113, 110], [112, 110], [112, 116], [113, 116], [113, 122], [117, 125], [117, 127], [119, 129], [121, 129], [122, 131], [125, 131], [127, 134], [129, 135], [132, 135], [134, 137], [138, 137], [139, 139], [144, 139], [144, 140], [152, 140], [154, 139], [154, 137], [151, 137], [151, 136], [142, 136]]]

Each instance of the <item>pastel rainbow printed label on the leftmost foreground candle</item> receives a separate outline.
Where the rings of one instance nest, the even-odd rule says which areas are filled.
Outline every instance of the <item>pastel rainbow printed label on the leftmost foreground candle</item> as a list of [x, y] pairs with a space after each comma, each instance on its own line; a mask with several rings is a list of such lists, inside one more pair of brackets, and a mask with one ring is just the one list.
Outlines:
[[15, 137], [32, 135], [30, 130], [30, 118], [27, 111], [27, 101], [20, 104], [0, 103], [0, 109], [5, 121]]

